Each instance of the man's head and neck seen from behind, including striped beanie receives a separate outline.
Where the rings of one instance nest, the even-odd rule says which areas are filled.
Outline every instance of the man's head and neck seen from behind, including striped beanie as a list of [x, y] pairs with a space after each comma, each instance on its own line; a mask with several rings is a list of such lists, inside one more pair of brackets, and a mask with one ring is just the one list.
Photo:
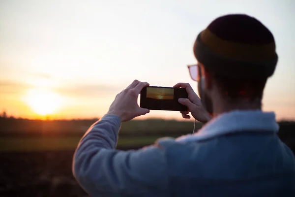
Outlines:
[[266, 80], [278, 61], [273, 35], [261, 22], [242, 14], [219, 17], [197, 36], [194, 55], [208, 112], [250, 109], [253, 103], [261, 107]]

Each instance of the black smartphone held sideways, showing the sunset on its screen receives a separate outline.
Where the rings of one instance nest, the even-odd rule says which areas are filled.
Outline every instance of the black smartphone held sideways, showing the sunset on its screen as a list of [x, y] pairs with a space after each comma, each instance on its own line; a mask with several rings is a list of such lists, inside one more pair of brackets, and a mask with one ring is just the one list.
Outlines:
[[140, 107], [152, 110], [186, 111], [187, 107], [178, 102], [187, 98], [185, 88], [148, 86], [140, 94]]

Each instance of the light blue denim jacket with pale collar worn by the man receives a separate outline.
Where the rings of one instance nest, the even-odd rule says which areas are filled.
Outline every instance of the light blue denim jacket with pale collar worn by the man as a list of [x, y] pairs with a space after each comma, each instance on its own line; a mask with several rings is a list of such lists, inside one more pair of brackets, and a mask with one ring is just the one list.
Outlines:
[[115, 149], [119, 128], [106, 115], [76, 149], [74, 176], [93, 197], [295, 197], [295, 158], [272, 112], [224, 113], [140, 150]]

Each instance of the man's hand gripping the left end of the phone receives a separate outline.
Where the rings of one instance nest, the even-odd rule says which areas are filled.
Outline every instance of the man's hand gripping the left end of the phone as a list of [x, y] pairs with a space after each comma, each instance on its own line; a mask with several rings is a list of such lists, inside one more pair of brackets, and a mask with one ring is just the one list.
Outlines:
[[137, 98], [147, 82], [134, 80], [125, 90], [120, 92], [111, 104], [108, 115], [117, 115], [121, 122], [129, 121], [137, 116], [149, 113], [149, 109], [138, 106]]

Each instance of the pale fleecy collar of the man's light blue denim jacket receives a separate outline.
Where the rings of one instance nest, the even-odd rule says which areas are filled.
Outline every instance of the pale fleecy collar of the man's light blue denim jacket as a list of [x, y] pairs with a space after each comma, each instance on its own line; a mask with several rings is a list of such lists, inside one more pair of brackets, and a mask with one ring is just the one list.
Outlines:
[[222, 134], [243, 131], [278, 132], [279, 125], [275, 120], [273, 112], [237, 110], [223, 113], [213, 118], [195, 134], [183, 135], [176, 140], [180, 142], [202, 140]]

